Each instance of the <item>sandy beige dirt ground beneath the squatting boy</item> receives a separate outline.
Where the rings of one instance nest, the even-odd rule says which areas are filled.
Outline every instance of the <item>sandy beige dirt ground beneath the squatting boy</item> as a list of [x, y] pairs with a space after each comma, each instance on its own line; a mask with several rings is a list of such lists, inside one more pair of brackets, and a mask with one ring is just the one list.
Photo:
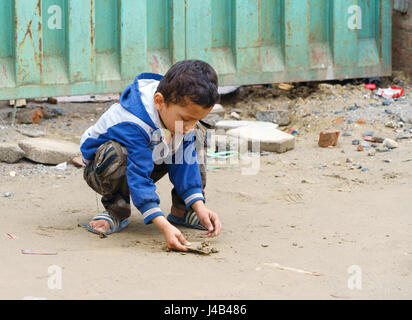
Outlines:
[[[0, 298], [410, 299], [412, 139], [375, 156], [356, 151], [352, 140], [366, 130], [388, 137], [396, 132], [378, 115], [366, 124], [333, 125], [342, 116], [334, 113], [340, 107], [362, 99], [367, 103], [359, 103], [359, 111], [365, 111], [366, 104], [374, 103], [369, 93], [362, 98], [365, 90], [359, 86], [339, 90], [341, 95], [333, 93], [339, 103], [329, 93], [289, 101], [264, 97], [265, 103], [279, 100], [287, 106], [301, 99], [296, 110], [290, 108], [295, 112], [290, 127], [304, 133], [296, 137], [294, 150], [263, 154], [256, 175], [242, 175], [241, 164], [208, 171], [207, 206], [223, 224], [222, 233], [210, 239], [219, 252], [210, 256], [167, 252], [162, 234], [144, 225], [135, 208], [126, 229], [101, 239], [78, 226], [102, 210], [82, 169], [69, 165], [60, 171], [26, 160], [0, 163]], [[352, 96], [354, 90], [360, 95]], [[412, 91], [407, 104], [394, 103], [394, 108], [410, 107], [410, 96]], [[381, 104], [379, 99], [372, 100]], [[243, 103], [246, 110], [245, 97], [239, 101], [223, 105], [230, 110]], [[78, 142], [107, 106], [62, 106], [61, 117], [40, 127], [47, 136]], [[319, 130], [331, 126], [351, 136], [341, 136], [337, 147], [319, 148]], [[21, 138], [5, 124], [2, 128], [3, 141]], [[354, 164], [367, 170], [352, 169]], [[165, 213], [170, 190], [165, 177], [158, 183]], [[11, 196], [3, 196], [7, 192]], [[202, 231], [180, 230], [189, 241], [206, 239]], [[55, 250], [57, 255], [26, 255], [22, 249]], [[48, 287], [54, 265], [62, 270], [61, 289]], [[356, 275], [358, 286], [353, 287]]]

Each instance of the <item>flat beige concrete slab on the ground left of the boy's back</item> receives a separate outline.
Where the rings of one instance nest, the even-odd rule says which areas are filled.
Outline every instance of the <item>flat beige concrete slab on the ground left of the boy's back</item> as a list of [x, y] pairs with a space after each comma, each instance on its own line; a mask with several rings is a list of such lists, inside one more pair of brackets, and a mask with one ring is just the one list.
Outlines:
[[26, 139], [19, 142], [19, 147], [27, 159], [44, 164], [59, 164], [80, 155], [78, 144], [64, 140]]

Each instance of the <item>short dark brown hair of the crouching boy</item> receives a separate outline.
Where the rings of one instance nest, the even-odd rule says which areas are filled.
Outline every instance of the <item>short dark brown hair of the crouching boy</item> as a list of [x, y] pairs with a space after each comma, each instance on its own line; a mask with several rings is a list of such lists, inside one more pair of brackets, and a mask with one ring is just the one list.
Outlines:
[[160, 80], [157, 92], [166, 103], [185, 105], [186, 98], [210, 108], [215, 105], [219, 94], [216, 71], [200, 60], [183, 60], [174, 64]]

